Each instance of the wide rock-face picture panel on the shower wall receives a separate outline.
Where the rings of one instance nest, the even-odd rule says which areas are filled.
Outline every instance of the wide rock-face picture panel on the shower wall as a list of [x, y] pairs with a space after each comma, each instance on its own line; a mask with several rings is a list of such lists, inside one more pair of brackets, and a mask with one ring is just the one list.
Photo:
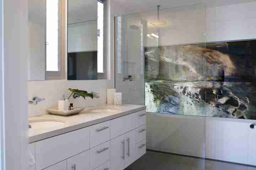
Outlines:
[[145, 47], [147, 112], [256, 119], [256, 40]]

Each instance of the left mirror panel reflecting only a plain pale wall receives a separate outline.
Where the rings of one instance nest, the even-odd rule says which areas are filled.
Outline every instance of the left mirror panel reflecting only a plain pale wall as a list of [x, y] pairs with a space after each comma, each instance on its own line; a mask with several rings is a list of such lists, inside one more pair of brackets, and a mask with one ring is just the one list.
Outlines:
[[28, 80], [44, 80], [46, 66], [46, 1], [28, 0]]

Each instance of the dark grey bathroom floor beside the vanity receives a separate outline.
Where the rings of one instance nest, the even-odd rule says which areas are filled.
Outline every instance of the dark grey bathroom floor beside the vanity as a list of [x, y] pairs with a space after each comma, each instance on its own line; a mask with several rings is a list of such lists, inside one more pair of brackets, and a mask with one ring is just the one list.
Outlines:
[[256, 168], [147, 151], [126, 170], [256, 170]]

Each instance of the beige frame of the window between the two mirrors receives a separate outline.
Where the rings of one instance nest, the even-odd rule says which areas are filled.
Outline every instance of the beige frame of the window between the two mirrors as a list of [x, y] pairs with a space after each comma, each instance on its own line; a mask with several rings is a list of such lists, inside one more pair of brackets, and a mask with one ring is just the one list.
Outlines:
[[66, 4], [66, 0], [59, 0], [59, 71], [45, 71], [46, 80], [65, 79]]

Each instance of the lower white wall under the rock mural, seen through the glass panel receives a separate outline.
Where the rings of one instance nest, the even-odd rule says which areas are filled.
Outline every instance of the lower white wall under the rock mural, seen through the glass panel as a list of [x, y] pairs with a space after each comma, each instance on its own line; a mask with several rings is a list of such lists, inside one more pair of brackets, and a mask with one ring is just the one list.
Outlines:
[[205, 157], [205, 117], [147, 113], [147, 149]]

